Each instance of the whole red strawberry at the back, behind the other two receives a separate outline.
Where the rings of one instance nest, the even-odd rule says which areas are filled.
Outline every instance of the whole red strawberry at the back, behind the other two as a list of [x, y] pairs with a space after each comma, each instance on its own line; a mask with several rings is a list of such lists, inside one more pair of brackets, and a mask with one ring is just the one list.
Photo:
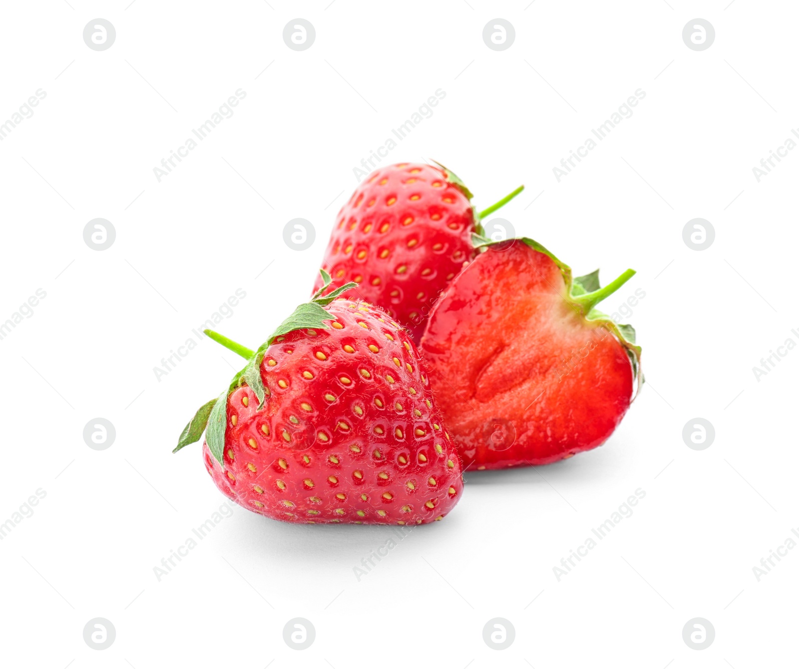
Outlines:
[[479, 220], [523, 188], [478, 216], [469, 189], [443, 165], [379, 168], [341, 208], [322, 266], [335, 282], [360, 284], [345, 296], [383, 307], [419, 341], [440, 292], [475, 257]]

